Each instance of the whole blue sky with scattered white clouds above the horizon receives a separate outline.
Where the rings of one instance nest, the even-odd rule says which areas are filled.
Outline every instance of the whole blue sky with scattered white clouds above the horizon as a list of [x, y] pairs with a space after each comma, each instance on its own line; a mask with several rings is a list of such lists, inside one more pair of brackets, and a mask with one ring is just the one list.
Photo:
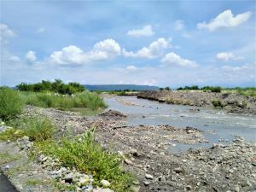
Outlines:
[[1, 0], [1, 85], [256, 86], [255, 1]]

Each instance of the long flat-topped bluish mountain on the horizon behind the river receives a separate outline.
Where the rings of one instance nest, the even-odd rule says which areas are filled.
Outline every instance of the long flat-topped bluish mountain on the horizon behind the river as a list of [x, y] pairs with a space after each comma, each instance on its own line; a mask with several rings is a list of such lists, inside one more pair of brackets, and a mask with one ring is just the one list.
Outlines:
[[137, 84], [84, 84], [86, 90], [159, 90], [157, 86]]

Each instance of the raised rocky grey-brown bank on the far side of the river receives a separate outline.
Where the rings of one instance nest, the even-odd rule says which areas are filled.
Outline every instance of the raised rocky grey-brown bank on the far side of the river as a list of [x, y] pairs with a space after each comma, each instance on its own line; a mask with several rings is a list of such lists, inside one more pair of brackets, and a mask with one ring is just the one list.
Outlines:
[[172, 104], [212, 107], [212, 101], [219, 101], [228, 113], [256, 114], [256, 97], [234, 93], [212, 93], [201, 90], [153, 90], [137, 94], [138, 98]]

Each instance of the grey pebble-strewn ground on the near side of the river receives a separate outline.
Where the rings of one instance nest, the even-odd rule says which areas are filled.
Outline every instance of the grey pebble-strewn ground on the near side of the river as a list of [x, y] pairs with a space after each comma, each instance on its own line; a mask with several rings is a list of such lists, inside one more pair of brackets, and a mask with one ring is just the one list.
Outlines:
[[[53, 119], [58, 127], [56, 137], [65, 135], [69, 130], [72, 130], [74, 135], [79, 135], [90, 126], [95, 126], [96, 140], [102, 143], [104, 148], [111, 148], [113, 152], [119, 153], [124, 158], [125, 168], [136, 175], [138, 181], [134, 183], [135, 191], [256, 190], [256, 146], [245, 143], [240, 137], [236, 137], [236, 140], [229, 144], [217, 143], [213, 144], [212, 148], [197, 148], [172, 154], [169, 149], [175, 148], [175, 143], [208, 141], [202, 131], [192, 127], [182, 129], [170, 125], [127, 126], [125, 114], [115, 111], [95, 117], [82, 117], [79, 113], [62, 112], [52, 108], [27, 107], [21, 114], [23, 115], [48, 116]], [[0, 165], [12, 183], [18, 183], [18, 189], [34, 187], [20, 191], [54, 191], [50, 189], [52, 183], [49, 178], [67, 184], [70, 179], [74, 179], [78, 186], [86, 180], [87, 184], [82, 185], [86, 188], [79, 187], [78, 190], [91, 189], [90, 179], [93, 178], [90, 175], [68, 170], [67, 167], [58, 167], [57, 160], [38, 154], [38, 162], [28, 162], [26, 150], [29, 150], [31, 145], [26, 138], [22, 138], [18, 143], [0, 145], [0, 154], [11, 153], [5, 157], [9, 159], [4, 163], [0, 162]], [[19, 168], [21, 162], [26, 168]], [[27, 165], [30, 165], [29, 168]], [[38, 178], [38, 175], [44, 183], [27, 182], [31, 178]], [[34, 186], [27, 183], [33, 183]], [[22, 188], [19, 188], [19, 184]]]

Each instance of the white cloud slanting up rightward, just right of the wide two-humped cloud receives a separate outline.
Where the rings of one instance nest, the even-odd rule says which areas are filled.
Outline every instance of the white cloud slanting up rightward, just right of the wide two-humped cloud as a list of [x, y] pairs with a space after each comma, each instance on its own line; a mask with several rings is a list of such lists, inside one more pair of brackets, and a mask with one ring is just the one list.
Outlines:
[[159, 38], [149, 44], [148, 47], [143, 47], [143, 49], [139, 49], [136, 53], [123, 49], [123, 55], [125, 55], [126, 57], [142, 57], [153, 59], [162, 55], [164, 49], [171, 47], [170, 41], [172, 41], [172, 38], [169, 38], [168, 40], [166, 40], [165, 38]]

